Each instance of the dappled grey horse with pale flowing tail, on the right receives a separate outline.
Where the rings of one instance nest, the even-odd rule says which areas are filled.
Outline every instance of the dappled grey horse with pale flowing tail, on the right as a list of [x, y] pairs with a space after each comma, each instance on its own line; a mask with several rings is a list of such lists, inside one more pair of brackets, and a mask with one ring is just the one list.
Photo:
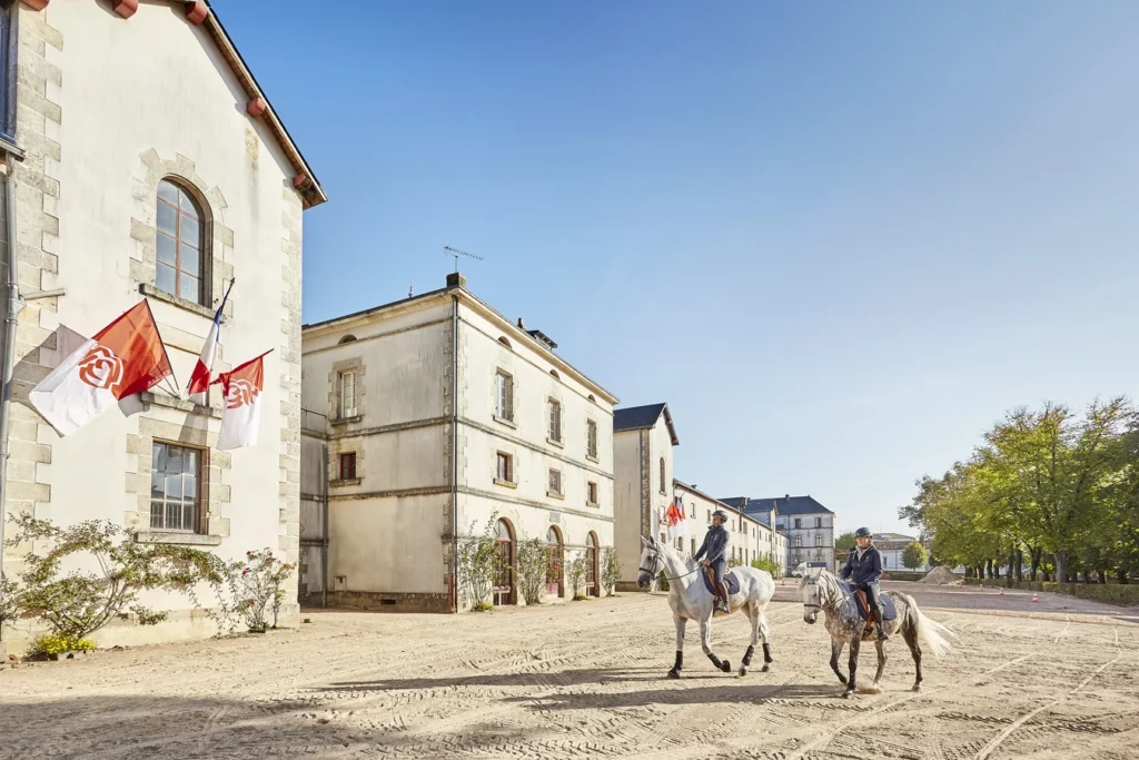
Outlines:
[[[868, 626], [867, 621], [859, 614], [858, 600], [854, 598], [854, 590], [851, 585], [839, 580], [833, 573], [821, 570], [809, 572], [798, 582], [798, 591], [803, 597], [803, 620], [814, 623], [819, 618], [819, 612], [823, 612], [827, 618], [826, 627], [830, 634], [830, 669], [838, 676], [838, 680], [846, 684], [843, 697], [850, 697], [857, 688], [855, 679], [858, 671], [858, 653], [862, 641], [874, 640], [878, 649], [878, 672], [875, 673], [874, 684], [867, 692], [877, 694], [882, 690], [879, 680], [882, 671], [886, 668], [886, 643], [878, 639], [878, 632], [874, 626]], [[913, 597], [899, 591], [886, 591], [883, 596], [883, 606], [888, 597], [896, 608], [896, 616], [885, 623], [886, 635], [893, 636], [901, 631], [902, 638], [910, 647], [913, 655], [913, 664], [917, 668], [917, 680], [913, 681], [915, 692], [921, 690], [921, 647], [932, 652], [935, 656], [941, 656], [952, 648], [947, 640], [956, 634], [935, 620], [931, 620], [918, 610]], [[851, 647], [850, 678], [838, 669], [838, 656], [843, 653], [843, 647]]]

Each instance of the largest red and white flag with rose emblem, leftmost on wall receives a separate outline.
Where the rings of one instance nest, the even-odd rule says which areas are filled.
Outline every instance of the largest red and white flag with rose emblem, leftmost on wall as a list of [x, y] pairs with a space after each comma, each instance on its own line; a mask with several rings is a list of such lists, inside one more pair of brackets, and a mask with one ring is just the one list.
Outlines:
[[71, 435], [120, 399], [172, 374], [150, 304], [142, 300], [64, 359], [28, 400], [60, 435]]

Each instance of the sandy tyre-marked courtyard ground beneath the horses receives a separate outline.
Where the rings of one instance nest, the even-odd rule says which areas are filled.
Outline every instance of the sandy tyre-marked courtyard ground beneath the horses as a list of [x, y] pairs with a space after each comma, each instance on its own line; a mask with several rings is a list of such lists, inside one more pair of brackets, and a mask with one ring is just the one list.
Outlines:
[[[790, 586], [776, 662], [712, 670], [688, 634], [664, 678], [663, 595], [461, 616], [305, 613], [300, 631], [99, 652], [0, 671], [0, 758], [1134, 758], [1139, 611], [1067, 597], [888, 587], [964, 637], [926, 659], [891, 643], [886, 689], [839, 698], [821, 626]], [[714, 648], [746, 648], [739, 616]], [[762, 660], [756, 656], [753, 665]], [[872, 647], [860, 675], [869, 681]]]

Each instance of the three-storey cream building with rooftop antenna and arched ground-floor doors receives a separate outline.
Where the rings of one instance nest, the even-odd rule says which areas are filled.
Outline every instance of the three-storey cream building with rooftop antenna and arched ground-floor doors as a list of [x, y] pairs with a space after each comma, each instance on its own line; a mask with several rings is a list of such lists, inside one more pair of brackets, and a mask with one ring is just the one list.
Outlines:
[[[572, 593], [558, 566], [579, 555], [590, 593], [600, 590], [616, 398], [465, 283], [450, 275], [443, 289], [304, 327], [310, 597], [323, 591], [327, 563], [331, 605], [465, 608], [456, 539], [481, 533], [494, 513], [511, 565], [519, 541], [550, 545], [550, 599]], [[494, 602], [519, 597], [506, 573]]]

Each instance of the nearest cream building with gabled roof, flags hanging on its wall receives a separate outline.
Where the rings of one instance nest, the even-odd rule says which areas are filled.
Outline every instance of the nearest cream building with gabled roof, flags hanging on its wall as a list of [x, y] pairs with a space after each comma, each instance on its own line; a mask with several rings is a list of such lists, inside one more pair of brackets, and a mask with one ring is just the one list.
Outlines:
[[[5, 267], [18, 314], [3, 438], [3, 515], [67, 525], [106, 518], [138, 540], [230, 558], [298, 557], [301, 214], [320, 186], [204, 2], [0, 2]], [[15, 228], [15, 236], [10, 230]], [[13, 239], [15, 237], [15, 239]], [[59, 438], [28, 390], [141, 299], [185, 398], [222, 288], [215, 370], [265, 359], [260, 444], [218, 451], [221, 399], [194, 406], [166, 383]], [[28, 547], [3, 549], [18, 574]], [[208, 597], [207, 597], [208, 598]], [[101, 645], [212, 634], [180, 594], [147, 602], [155, 627], [120, 620]], [[285, 624], [297, 621], [295, 591]], [[34, 634], [19, 621], [3, 637]]]

